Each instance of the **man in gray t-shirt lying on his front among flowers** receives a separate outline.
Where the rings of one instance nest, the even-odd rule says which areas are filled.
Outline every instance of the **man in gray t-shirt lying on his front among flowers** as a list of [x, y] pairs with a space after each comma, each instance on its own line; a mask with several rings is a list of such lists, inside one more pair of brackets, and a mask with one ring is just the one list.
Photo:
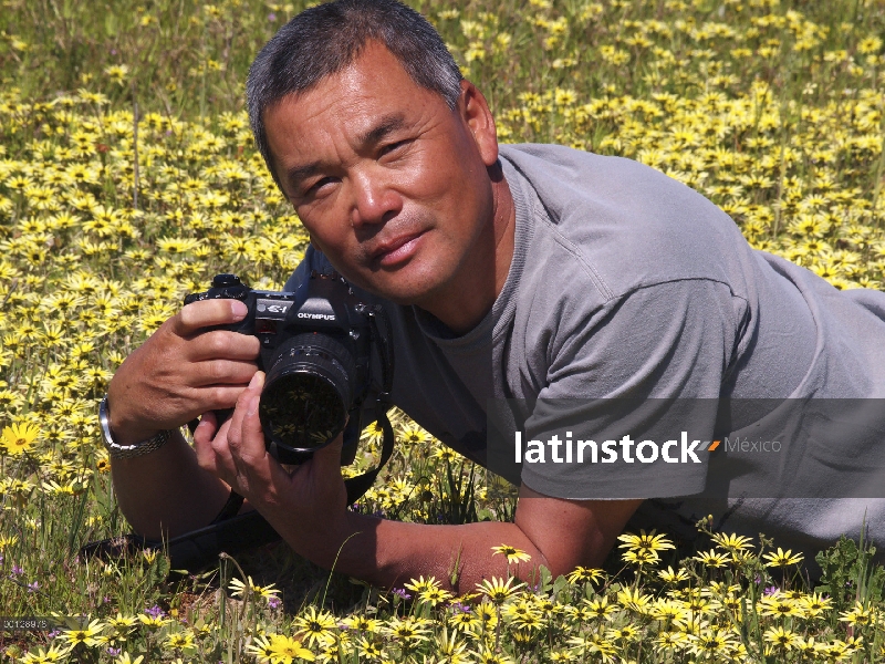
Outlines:
[[[841, 294], [753, 252], [715, 206], [633, 162], [499, 149], [480, 92], [394, 0], [303, 12], [262, 50], [248, 91], [258, 145], [311, 236], [290, 288], [331, 266], [382, 303], [394, 402], [476, 460], [486, 458], [488, 400], [885, 393], [882, 344], [871, 342], [885, 330], [879, 293]], [[695, 495], [643, 505], [646, 518], [690, 521], [717, 498], [704, 492], [704, 464], [539, 465], [523, 470], [513, 523], [355, 515], [340, 439], [291, 471], [267, 454], [258, 340], [208, 331], [244, 314], [231, 300], [185, 307], [111, 383], [114, 485], [144, 536], [207, 525], [232, 487], [242, 509], [321, 566], [388, 587], [450, 579], [457, 567], [464, 592], [506, 573], [492, 547], [527, 551], [523, 574], [541, 564], [564, 573], [600, 564], [644, 499]], [[218, 427], [212, 411], [235, 403]], [[521, 407], [514, 427], [550, 430], [540, 405]], [[199, 415], [191, 450], [175, 429]], [[594, 425], [611, 409], [586, 415]], [[751, 502], [730, 523], [773, 526], [802, 544], [860, 526], [840, 520], [837, 501]]]

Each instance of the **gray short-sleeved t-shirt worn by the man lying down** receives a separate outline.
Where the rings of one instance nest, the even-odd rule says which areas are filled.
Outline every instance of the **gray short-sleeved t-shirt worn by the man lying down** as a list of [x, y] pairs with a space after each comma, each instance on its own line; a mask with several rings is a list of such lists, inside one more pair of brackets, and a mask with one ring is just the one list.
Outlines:
[[[488, 400], [885, 397], [885, 293], [837, 291], [752, 250], [714, 204], [636, 162], [506, 145], [501, 164], [513, 260], [473, 330], [456, 336], [420, 309], [363, 293], [393, 323], [394, 403], [456, 450], [486, 463]], [[313, 250], [288, 290], [310, 269], [327, 269]], [[540, 412], [512, 416], [527, 435], [544, 428]], [[707, 464], [527, 464], [522, 480], [563, 498], [629, 486], [655, 499], [635, 523], [676, 535], [712, 512], [723, 530], [811, 551], [856, 533], [866, 510], [885, 539], [885, 501], [735, 499], [707, 486]]]

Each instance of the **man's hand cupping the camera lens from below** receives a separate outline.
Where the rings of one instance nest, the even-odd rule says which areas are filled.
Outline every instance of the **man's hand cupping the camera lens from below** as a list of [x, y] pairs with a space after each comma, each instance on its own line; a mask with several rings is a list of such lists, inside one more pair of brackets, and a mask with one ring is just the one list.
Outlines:
[[212, 413], [202, 416], [194, 433], [197, 461], [243, 496], [296, 551], [323, 558], [340, 546], [345, 529], [343, 436], [291, 470], [283, 467], [264, 445], [258, 415], [263, 384], [264, 374], [258, 372], [220, 428]]

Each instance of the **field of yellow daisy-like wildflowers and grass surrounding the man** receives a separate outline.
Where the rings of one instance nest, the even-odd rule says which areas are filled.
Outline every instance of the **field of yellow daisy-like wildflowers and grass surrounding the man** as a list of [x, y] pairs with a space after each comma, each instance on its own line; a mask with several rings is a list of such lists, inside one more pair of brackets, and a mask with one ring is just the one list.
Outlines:
[[[0, 2], [0, 663], [873, 662], [885, 572], [842, 541], [809, 561], [712, 533], [627, 535], [606, 571], [384, 591], [285, 547], [171, 574], [83, 559], [127, 531], [96, 406], [116, 366], [218, 271], [279, 289], [306, 237], [252, 148], [246, 69], [303, 3]], [[638, 159], [728, 211], [757, 248], [837, 288], [885, 270], [878, 0], [416, 1], [504, 142]], [[513, 496], [399, 414], [360, 509], [507, 519]], [[356, 466], [372, 463], [366, 430]], [[706, 549], [706, 550], [705, 550]], [[507, 542], [513, 572], [524, 554]], [[80, 620], [64, 616], [83, 616]]]

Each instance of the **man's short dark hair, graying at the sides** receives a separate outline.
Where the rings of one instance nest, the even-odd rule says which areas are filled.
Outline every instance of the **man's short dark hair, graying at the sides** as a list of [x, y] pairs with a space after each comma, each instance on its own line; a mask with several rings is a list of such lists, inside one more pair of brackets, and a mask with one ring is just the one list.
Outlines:
[[439, 93], [450, 108], [464, 79], [430, 23], [397, 0], [336, 0], [304, 10], [261, 49], [246, 83], [256, 144], [274, 180], [264, 111], [350, 65], [367, 41], [383, 43], [417, 85]]

